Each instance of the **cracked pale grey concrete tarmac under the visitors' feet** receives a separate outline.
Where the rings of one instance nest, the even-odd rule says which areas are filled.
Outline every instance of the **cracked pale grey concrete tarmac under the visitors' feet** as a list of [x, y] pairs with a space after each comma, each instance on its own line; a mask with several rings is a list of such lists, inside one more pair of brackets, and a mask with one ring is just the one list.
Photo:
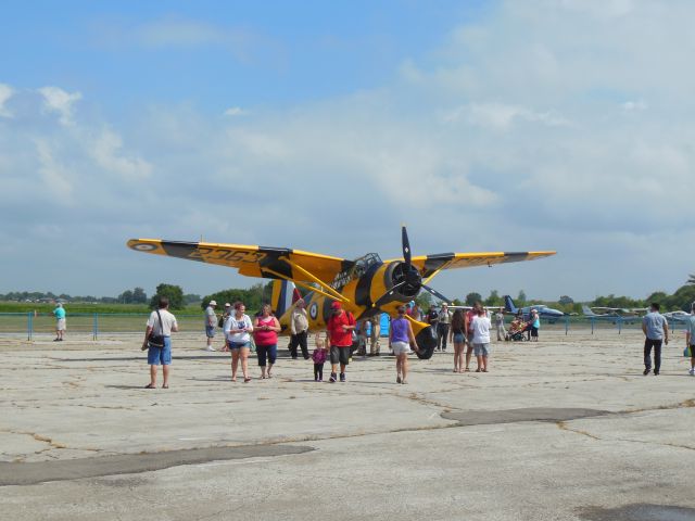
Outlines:
[[695, 520], [683, 332], [658, 377], [641, 332], [541, 333], [488, 373], [414, 357], [407, 385], [390, 356], [314, 382], [286, 341], [232, 383], [181, 333], [167, 390], [142, 389], [141, 334], [0, 339], [0, 519]]

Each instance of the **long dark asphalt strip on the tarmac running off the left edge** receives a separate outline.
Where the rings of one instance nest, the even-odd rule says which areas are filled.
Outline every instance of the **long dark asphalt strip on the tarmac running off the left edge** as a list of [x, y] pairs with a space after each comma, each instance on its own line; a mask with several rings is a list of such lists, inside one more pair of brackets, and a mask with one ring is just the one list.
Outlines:
[[0, 462], [0, 486], [34, 485], [48, 481], [134, 474], [168, 469], [180, 465], [200, 465], [210, 461], [258, 457], [267, 458], [304, 454], [309, 450], [314, 450], [314, 447], [301, 445], [249, 445], [243, 447], [207, 447], [162, 453], [122, 454], [101, 458], [29, 463]]

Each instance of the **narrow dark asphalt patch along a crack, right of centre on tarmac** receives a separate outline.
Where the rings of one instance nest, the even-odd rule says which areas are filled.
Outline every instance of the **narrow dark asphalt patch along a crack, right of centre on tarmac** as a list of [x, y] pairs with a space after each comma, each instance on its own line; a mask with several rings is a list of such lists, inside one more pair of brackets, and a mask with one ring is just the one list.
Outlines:
[[609, 414], [609, 411], [601, 409], [528, 407], [504, 410], [452, 410], [442, 412], [442, 418], [455, 420], [460, 427], [468, 427], [517, 423], [520, 421], [569, 421]]

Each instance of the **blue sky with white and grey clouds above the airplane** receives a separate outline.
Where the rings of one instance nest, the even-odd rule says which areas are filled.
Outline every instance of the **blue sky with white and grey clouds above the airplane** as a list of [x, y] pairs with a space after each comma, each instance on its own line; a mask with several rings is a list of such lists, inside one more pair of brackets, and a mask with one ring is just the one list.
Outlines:
[[0, 293], [235, 270], [131, 238], [345, 258], [556, 250], [443, 272], [576, 301], [695, 272], [695, 3], [9, 0]]

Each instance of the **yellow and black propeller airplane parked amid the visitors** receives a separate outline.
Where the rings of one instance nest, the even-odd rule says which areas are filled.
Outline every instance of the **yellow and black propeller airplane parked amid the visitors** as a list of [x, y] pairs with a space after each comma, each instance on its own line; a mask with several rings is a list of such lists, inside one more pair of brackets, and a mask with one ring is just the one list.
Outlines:
[[[320, 331], [331, 315], [331, 304], [342, 303], [355, 319], [381, 313], [395, 315], [399, 306], [414, 300], [421, 290], [437, 298], [448, 298], [428, 285], [444, 269], [492, 266], [533, 260], [555, 252], [440, 253], [412, 256], [407, 230], [402, 228], [403, 258], [381, 260], [368, 253], [354, 260], [286, 247], [266, 247], [208, 242], [177, 242], [161, 239], [131, 239], [128, 247], [137, 252], [186, 258], [237, 268], [240, 275], [275, 279], [274, 309], [289, 334], [289, 321], [295, 303], [286, 303], [290, 284], [308, 290], [303, 297], [309, 329]], [[410, 317], [408, 317], [410, 318]], [[437, 332], [430, 325], [412, 319], [420, 347], [418, 357], [430, 358], [437, 346]]]

